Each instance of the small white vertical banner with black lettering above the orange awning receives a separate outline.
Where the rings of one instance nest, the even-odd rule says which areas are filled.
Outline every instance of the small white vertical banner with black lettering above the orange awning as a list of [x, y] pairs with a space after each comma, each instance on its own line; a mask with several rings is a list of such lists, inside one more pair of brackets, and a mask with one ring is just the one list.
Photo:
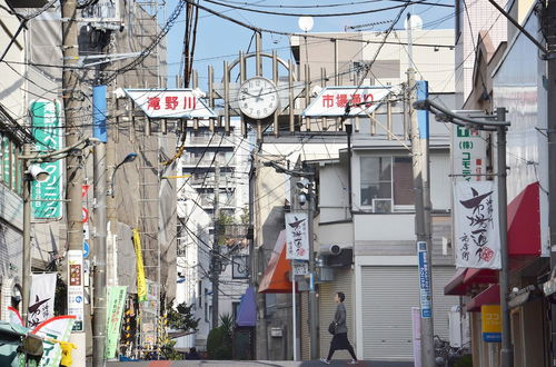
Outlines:
[[309, 220], [307, 212], [286, 214], [286, 258], [309, 260]]

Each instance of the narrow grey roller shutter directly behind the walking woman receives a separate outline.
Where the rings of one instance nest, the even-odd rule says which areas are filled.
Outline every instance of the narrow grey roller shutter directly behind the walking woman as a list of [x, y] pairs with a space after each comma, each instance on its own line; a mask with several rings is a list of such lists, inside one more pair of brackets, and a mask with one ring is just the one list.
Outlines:
[[[336, 269], [334, 271], [334, 281], [324, 282], [319, 285], [319, 320], [320, 320], [320, 355], [326, 357], [328, 349], [330, 348], [330, 340], [332, 336], [328, 333], [328, 325], [334, 319], [336, 314], [336, 302], [334, 301], [334, 295], [338, 291], [342, 291], [346, 295], [346, 313], [347, 313], [347, 327], [348, 327], [348, 339], [355, 346], [355, 299], [354, 299], [354, 286], [353, 286], [353, 270], [341, 270]], [[334, 354], [335, 359], [351, 359], [347, 350], [338, 350]]]

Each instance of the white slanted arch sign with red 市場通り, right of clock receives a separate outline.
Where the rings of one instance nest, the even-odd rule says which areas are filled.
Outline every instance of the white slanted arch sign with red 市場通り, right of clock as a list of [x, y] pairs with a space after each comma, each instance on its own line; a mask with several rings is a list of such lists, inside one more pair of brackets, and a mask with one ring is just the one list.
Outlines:
[[385, 87], [327, 87], [307, 107], [302, 116], [344, 116], [349, 103], [349, 116], [366, 116], [373, 112], [391, 92]]

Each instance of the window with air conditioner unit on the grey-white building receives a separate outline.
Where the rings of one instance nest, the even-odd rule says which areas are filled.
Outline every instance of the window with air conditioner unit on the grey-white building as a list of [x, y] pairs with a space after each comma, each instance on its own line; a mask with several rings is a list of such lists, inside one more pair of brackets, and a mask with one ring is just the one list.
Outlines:
[[411, 209], [414, 205], [411, 158], [363, 157], [361, 206], [374, 212]]

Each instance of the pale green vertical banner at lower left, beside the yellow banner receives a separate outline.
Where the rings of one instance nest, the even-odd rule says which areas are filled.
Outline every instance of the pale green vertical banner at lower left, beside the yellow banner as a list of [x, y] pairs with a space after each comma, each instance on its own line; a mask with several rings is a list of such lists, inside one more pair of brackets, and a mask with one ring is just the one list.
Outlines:
[[121, 317], [126, 304], [127, 287], [108, 287], [106, 354], [107, 359], [116, 357], [116, 349], [120, 340]]

